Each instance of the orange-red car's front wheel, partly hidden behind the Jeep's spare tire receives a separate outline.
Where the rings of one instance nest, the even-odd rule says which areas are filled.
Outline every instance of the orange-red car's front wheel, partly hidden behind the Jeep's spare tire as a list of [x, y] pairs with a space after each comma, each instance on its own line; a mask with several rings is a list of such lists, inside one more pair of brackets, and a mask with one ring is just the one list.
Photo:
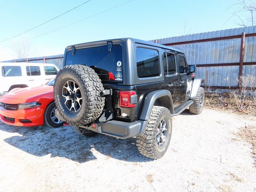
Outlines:
[[54, 102], [51, 102], [45, 109], [44, 112], [44, 123], [53, 128], [63, 126], [64, 122], [59, 120], [55, 114], [56, 105]]

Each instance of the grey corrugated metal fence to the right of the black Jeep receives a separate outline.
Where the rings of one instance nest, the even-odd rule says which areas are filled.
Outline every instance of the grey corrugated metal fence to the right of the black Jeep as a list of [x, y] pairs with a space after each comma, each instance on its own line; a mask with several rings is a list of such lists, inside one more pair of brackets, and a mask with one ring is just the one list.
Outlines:
[[[239, 70], [241, 76], [256, 76], [256, 26], [164, 38], [157, 42], [185, 52], [188, 64], [197, 65], [196, 74], [205, 79], [207, 87], [237, 87]], [[256, 87], [256, 82], [253, 86]]]

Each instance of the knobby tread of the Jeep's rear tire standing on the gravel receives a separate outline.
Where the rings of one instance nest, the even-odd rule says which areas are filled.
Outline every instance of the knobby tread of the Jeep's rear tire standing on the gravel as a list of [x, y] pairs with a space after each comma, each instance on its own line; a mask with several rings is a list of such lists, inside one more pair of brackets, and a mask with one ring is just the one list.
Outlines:
[[[170, 120], [171, 120], [170, 129], [172, 131], [172, 118], [171, 118], [170, 111], [167, 108], [162, 106], [153, 106], [145, 132], [142, 135], [136, 137], [136, 146], [140, 154], [142, 154], [143, 156], [146, 156], [152, 159], [159, 159], [165, 153], [164, 152], [163, 154], [158, 154], [156, 150], [156, 146], [154, 146], [156, 145], [156, 142], [154, 140], [155, 139], [154, 131], [155, 129], [157, 129], [158, 123], [160, 122], [162, 115], [164, 113], [170, 116]], [[172, 134], [172, 132], [170, 132], [170, 134]], [[167, 150], [170, 144], [170, 139], [166, 142], [168, 142], [166, 146], [166, 150]]]

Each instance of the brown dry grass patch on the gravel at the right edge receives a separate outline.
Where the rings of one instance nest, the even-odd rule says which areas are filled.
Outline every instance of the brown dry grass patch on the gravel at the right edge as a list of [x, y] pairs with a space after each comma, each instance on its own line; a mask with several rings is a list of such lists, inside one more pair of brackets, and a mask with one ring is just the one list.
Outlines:
[[244, 128], [240, 128], [238, 135], [252, 144], [252, 154], [256, 166], [256, 126], [245, 126]]

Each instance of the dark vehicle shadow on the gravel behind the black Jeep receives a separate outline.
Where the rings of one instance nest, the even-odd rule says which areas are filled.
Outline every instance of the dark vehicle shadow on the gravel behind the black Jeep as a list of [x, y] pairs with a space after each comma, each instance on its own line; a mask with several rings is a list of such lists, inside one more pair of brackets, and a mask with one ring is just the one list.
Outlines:
[[29, 128], [0, 124], [0, 130], [20, 134], [21, 136], [12, 136], [4, 141], [38, 157], [51, 154], [51, 157], [64, 157], [84, 163], [95, 160], [94, 153], [99, 152], [105, 155], [106, 158], [115, 158], [127, 162], [152, 161], [152, 159], [146, 158], [138, 152], [135, 138], [122, 140], [102, 134], [89, 138], [74, 133], [70, 126]]

